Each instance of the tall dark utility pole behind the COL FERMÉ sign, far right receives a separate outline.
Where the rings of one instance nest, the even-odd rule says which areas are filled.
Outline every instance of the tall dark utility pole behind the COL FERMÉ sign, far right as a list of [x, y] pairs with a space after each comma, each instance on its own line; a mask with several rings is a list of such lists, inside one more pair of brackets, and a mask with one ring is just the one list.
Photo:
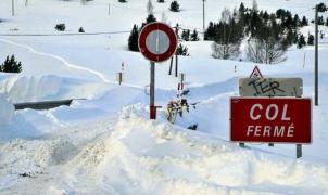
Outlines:
[[314, 105], [319, 104], [318, 88], [318, 5], [315, 6]]

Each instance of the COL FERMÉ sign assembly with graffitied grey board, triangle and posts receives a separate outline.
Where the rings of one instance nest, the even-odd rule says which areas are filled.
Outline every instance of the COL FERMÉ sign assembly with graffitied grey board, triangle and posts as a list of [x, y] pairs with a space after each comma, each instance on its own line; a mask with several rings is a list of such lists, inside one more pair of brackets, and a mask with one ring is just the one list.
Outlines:
[[295, 143], [297, 158], [302, 157], [302, 144], [312, 141], [311, 99], [301, 99], [302, 78], [264, 78], [255, 66], [250, 78], [239, 79], [239, 94], [230, 101], [230, 140], [241, 147]]

